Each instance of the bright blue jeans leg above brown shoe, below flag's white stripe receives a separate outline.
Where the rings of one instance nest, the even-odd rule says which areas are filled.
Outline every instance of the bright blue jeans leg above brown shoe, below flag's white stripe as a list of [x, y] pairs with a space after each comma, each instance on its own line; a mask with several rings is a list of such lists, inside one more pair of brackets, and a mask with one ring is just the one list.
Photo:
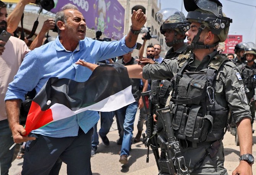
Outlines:
[[121, 136], [123, 135], [121, 156], [124, 154], [130, 155], [129, 149], [133, 138], [133, 124], [137, 109], [138, 102], [134, 102], [116, 111], [120, 127], [122, 128]]

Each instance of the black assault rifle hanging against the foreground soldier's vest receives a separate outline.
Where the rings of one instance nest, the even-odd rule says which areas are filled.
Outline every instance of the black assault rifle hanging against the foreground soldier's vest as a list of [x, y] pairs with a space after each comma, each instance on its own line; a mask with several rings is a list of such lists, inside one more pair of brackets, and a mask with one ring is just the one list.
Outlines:
[[181, 155], [180, 143], [176, 140], [172, 127], [173, 114], [170, 110], [170, 106], [156, 111], [158, 117], [162, 118], [164, 131], [167, 136], [167, 140], [164, 135], [157, 136], [158, 143], [161, 150], [166, 151], [166, 157], [160, 157], [159, 166], [160, 173], [162, 175], [189, 175], [188, 169], [185, 164], [185, 159]]

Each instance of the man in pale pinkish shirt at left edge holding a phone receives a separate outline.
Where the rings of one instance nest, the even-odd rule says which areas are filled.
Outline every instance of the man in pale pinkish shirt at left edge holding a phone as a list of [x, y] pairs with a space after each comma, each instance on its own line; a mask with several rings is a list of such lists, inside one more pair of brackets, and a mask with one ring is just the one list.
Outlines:
[[[3, 24], [0, 26], [1, 33], [3, 30], [6, 30], [8, 24], [6, 22], [6, 5], [2, 1], [0, 1], [0, 13], [2, 14], [0, 22]], [[8, 175], [15, 148], [9, 150], [13, 144], [13, 138], [11, 137], [12, 133], [8, 125], [4, 98], [8, 84], [13, 80], [24, 56], [29, 52], [29, 48], [24, 41], [13, 36], [6, 43], [0, 40], [0, 44], [5, 44], [4, 47], [0, 46], [0, 174]]]

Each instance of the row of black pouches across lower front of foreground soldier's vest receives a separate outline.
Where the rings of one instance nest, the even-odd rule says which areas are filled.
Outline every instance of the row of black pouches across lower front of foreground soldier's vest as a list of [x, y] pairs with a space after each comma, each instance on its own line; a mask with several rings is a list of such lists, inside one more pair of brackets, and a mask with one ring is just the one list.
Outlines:
[[201, 143], [219, 140], [224, 135], [228, 117], [227, 109], [203, 114], [202, 107], [199, 105], [192, 105], [191, 108], [177, 105], [172, 112], [175, 114], [172, 125], [178, 139]]

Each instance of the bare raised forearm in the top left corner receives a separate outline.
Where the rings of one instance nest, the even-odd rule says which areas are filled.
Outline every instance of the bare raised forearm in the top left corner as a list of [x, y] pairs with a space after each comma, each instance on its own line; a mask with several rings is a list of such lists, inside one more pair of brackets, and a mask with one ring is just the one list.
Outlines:
[[24, 8], [29, 3], [35, 3], [36, 0], [19, 0], [13, 11], [7, 18], [7, 32], [13, 33], [21, 20]]

